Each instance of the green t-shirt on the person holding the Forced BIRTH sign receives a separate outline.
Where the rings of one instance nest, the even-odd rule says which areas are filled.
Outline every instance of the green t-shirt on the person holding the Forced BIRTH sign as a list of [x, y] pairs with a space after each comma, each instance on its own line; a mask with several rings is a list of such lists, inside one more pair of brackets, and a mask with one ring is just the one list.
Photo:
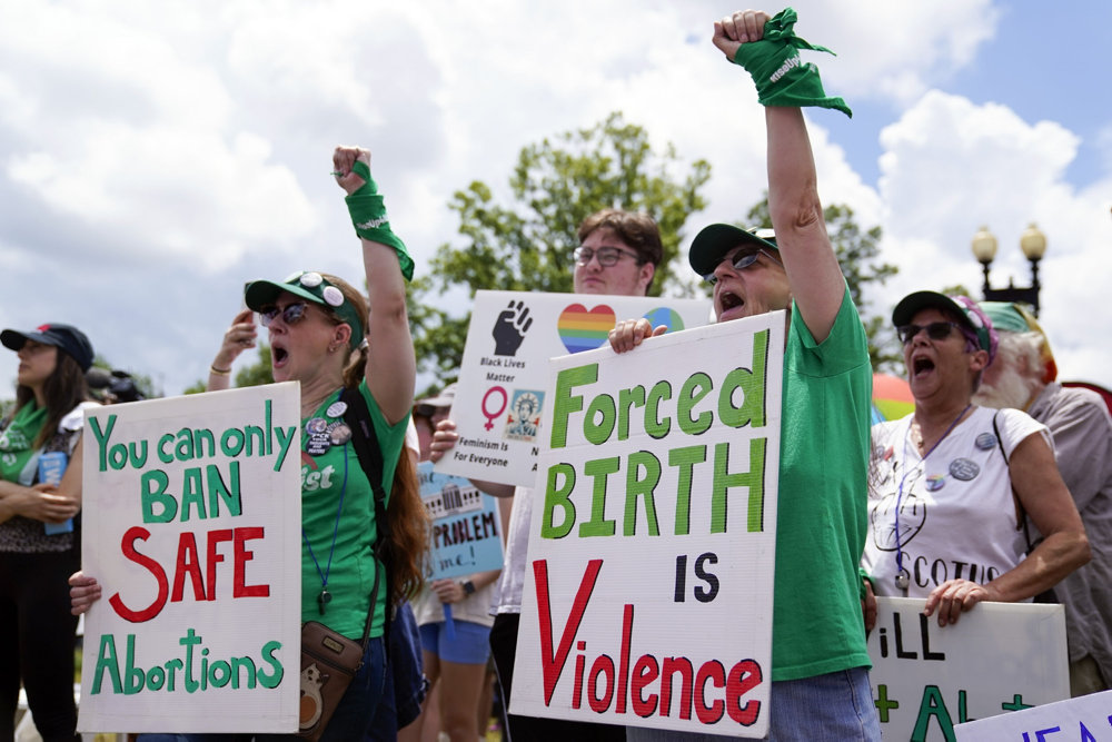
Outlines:
[[774, 681], [872, 665], [857, 565], [865, 546], [873, 372], [848, 290], [820, 344], [793, 307], [784, 354]]

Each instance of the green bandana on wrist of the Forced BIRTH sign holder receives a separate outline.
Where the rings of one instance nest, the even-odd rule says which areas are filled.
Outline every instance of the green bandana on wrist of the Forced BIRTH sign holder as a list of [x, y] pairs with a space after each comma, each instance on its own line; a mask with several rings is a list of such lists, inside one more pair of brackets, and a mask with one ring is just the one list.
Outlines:
[[800, 59], [800, 49], [834, 52], [825, 47], [812, 46], [795, 36], [792, 27], [798, 17], [785, 8], [765, 23], [764, 38], [743, 43], [734, 55], [757, 86], [757, 101], [762, 106], [818, 106], [835, 108], [853, 117], [841, 98], [828, 98], [818, 77], [818, 68]]

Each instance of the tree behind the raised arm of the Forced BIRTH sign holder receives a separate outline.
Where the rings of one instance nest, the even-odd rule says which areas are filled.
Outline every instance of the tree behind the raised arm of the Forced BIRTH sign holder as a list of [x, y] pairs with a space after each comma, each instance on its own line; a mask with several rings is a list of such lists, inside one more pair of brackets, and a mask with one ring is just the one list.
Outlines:
[[[881, 228], [873, 227], [862, 230], [853, 218], [853, 209], [845, 205], [827, 206], [823, 209], [826, 220], [826, 231], [834, 253], [837, 255], [845, 283], [850, 287], [850, 297], [857, 305], [865, 334], [868, 336], [868, 357], [873, 370], [902, 373], [903, 356], [896, 342], [895, 330], [886, 315], [868, 311], [868, 300], [865, 289], [871, 284], [883, 285], [898, 268], [888, 263], [877, 260], [880, 255]], [[753, 206], [747, 215], [746, 227], [771, 228], [768, 216], [768, 194], [761, 202]]]

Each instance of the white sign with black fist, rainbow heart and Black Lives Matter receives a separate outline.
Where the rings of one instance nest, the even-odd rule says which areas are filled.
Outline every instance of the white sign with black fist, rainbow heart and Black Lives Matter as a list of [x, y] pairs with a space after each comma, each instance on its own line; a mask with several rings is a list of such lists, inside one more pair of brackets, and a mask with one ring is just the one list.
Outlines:
[[711, 300], [476, 291], [451, 405], [459, 441], [436, 471], [532, 485], [548, 359], [603, 347], [617, 320], [633, 317], [669, 332], [701, 327]]

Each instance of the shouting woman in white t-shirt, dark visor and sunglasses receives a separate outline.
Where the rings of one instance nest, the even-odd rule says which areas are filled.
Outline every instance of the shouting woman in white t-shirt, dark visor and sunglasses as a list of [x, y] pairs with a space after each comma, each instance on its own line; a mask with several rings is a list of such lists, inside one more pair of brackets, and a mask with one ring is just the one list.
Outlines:
[[1029, 602], [1090, 560], [1046, 426], [973, 402], [997, 349], [975, 301], [915, 291], [892, 321], [915, 412], [873, 426], [866, 625], [874, 593], [925, 597], [940, 626], [983, 601]]

